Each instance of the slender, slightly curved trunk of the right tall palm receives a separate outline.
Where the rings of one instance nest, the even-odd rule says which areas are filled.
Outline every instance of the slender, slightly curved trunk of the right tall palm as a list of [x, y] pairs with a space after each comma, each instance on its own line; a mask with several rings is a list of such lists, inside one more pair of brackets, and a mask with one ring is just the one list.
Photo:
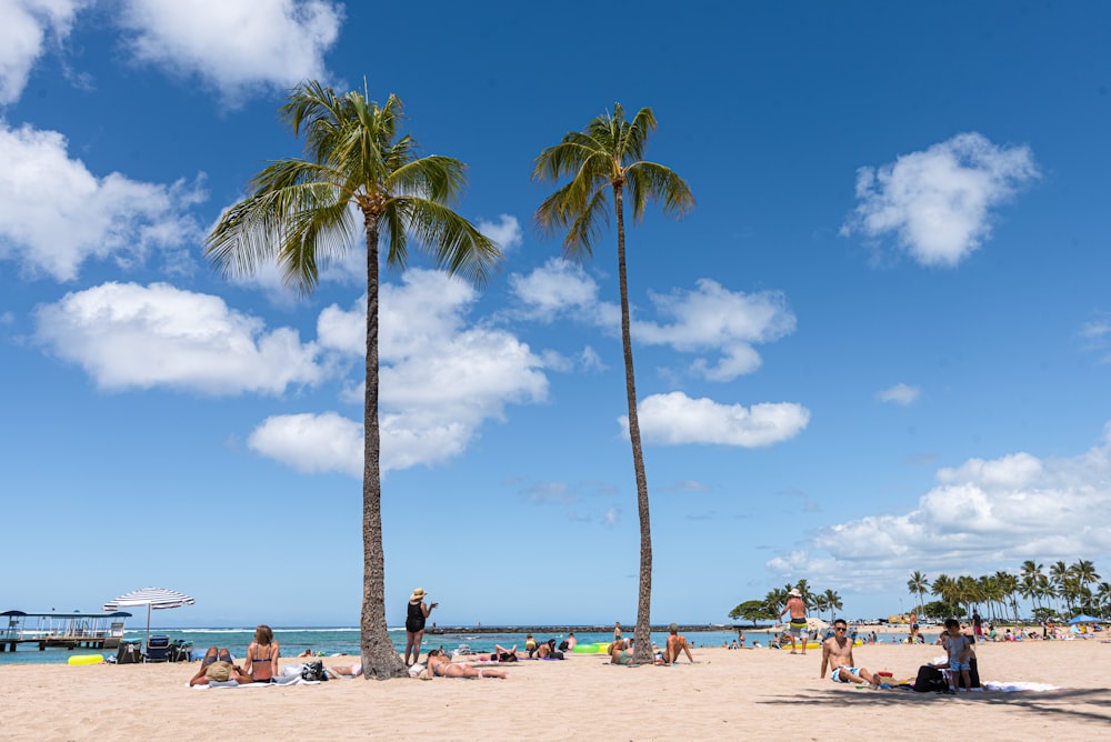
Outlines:
[[621, 186], [613, 186], [613, 208], [618, 218], [618, 281], [621, 285], [621, 345], [625, 362], [625, 397], [629, 403], [629, 440], [632, 443], [632, 467], [637, 474], [637, 511], [640, 514], [640, 590], [637, 598], [637, 629], [633, 635], [633, 662], [652, 662], [652, 525], [648, 508], [648, 477], [644, 474], [644, 451], [640, 443], [640, 419], [637, 415], [637, 381], [632, 368], [632, 331], [629, 318], [629, 278], [625, 271], [624, 202]]

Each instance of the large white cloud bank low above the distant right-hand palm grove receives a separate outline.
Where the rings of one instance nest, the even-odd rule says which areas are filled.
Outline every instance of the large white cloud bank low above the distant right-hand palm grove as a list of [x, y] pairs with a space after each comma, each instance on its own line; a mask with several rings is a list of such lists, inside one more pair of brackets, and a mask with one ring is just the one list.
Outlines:
[[[904, 514], [868, 515], [822, 529], [812, 547], [768, 566], [809, 564], [815, 583], [889, 590], [913, 570], [979, 576], [1028, 559], [1072, 560], [1111, 552], [1111, 424], [1103, 440], [1068, 459], [1020, 452], [970, 459], [938, 471], [938, 484]], [[819, 566], [821, 564], [821, 566]]]

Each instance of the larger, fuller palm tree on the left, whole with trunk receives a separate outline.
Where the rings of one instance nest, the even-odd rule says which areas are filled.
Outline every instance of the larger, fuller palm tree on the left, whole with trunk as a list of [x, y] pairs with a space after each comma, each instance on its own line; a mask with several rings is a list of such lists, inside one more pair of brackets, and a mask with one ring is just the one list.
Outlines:
[[[482, 283], [501, 253], [451, 209], [466, 184], [466, 166], [420, 157], [399, 137], [401, 101], [379, 108], [369, 96], [337, 96], [316, 81], [294, 87], [281, 107], [308, 159], [272, 162], [251, 180], [251, 192], [229, 209], [209, 235], [206, 252], [224, 274], [250, 273], [277, 261], [287, 285], [310, 293], [318, 269], [350, 250], [362, 218], [367, 243], [367, 388], [363, 404], [361, 651], [366, 678], [406, 675], [386, 624], [380, 432], [378, 423], [379, 237], [386, 263], [404, 269], [410, 238], [436, 265]], [[648, 642], [649, 644], [651, 642]]]

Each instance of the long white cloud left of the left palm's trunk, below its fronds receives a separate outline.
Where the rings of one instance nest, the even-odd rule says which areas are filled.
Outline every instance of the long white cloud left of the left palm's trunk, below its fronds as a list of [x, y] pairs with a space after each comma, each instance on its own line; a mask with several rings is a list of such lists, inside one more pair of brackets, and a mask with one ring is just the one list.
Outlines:
[[102, 389], [280, 394], [324, 377], [313, 343], [164, 283], [104, 283], [38, 310], [37, 339]]

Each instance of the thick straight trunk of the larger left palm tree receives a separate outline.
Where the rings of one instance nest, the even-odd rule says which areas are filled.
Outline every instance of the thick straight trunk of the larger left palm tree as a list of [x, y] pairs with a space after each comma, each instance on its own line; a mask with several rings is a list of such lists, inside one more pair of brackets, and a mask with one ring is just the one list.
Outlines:
[[[404, 665], [386, 624], [386, 552], [382, 545], [382, 469], [378, 428], [378, 217], [367, 228], [367, 391], [363, 400], [362, 619], [363, 678], [403, 678]], [[419, 650], [418, 650], [419, 651]]]

